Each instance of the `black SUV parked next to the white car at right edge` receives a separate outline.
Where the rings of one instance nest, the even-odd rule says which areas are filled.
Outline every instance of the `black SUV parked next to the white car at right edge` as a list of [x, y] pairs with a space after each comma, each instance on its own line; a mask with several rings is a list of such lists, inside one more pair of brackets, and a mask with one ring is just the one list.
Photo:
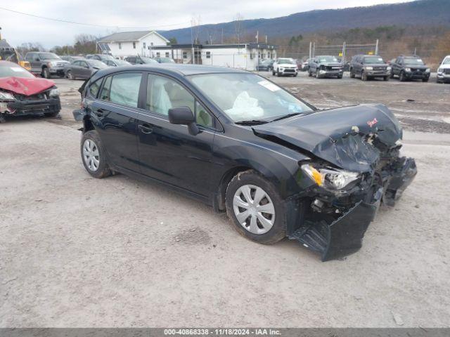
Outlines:
[[391, 63], [391, 66], [391, 79], [394, 76], [398, 76], [401, 82], [407, 79], [421, 79], [423, 82], [428, 82], [430, 79], [430, 68], [417, 55], [401, 55]]

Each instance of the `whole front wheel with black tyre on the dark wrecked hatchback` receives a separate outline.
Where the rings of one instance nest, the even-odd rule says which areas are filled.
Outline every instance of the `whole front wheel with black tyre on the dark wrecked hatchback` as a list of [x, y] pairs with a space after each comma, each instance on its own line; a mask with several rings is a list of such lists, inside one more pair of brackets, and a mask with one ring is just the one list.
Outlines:
[[226, 188], [226, 213], [236, 230], [260, 244], [286, 236], [285, 205], [274, 185], [257, 171], [238, 173]]

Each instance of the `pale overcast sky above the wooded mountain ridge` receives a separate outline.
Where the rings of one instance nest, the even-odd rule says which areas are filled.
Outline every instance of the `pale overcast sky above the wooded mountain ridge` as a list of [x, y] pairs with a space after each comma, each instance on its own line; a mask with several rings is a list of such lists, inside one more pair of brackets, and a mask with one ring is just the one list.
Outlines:
[[[39, 42], [46, 48], [73, 44], [80, 33], [103, 37], [117, 30], [168, 30], [191, 26], [200, 15], [201, 23], [233, 20], [236, 13], [244, 19], [276, 18], [314, 9], [346, 8], [392, 4], [411, 0], [16, 0], [1, 1], [0, 7], [33, 15], [93, 25], [90, 27], [11, 13], [0, 9], [2, 38], [18, 46]], [[120, 29], [114, 28], [120, 27]]]

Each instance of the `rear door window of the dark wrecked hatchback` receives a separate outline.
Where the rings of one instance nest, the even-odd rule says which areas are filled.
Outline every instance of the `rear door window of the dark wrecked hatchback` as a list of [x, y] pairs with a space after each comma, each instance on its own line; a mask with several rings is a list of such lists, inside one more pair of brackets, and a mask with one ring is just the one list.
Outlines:
[[138, 107], [139, 87], [142, 74], [125, 73], [108, 77], [101, 91], [101, 100], [127, 107]]

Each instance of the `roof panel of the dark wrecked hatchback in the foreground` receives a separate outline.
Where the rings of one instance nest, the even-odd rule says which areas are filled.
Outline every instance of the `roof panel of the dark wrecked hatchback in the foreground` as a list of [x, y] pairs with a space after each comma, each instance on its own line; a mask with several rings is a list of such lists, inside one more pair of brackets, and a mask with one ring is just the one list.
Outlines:
[[[195, 74], [220, 74], [220, 73], [243, 73], [247, 74], [245, 70], [239, 70], [229, 67], [213, 67], [210, 65], [179, 65], [176, 63], [158, 63], [158, 65], [129, 65], [127, 67], [120, 67], [120, 71], [124, 70], [148, 70], [156, 72], [164, 72], [166, 74], [178, 74], [182, 76], [189, 76]], [[102, 70], [101, 74], [109, 74], [117, 72], [116, 68], [108, 68]]]

